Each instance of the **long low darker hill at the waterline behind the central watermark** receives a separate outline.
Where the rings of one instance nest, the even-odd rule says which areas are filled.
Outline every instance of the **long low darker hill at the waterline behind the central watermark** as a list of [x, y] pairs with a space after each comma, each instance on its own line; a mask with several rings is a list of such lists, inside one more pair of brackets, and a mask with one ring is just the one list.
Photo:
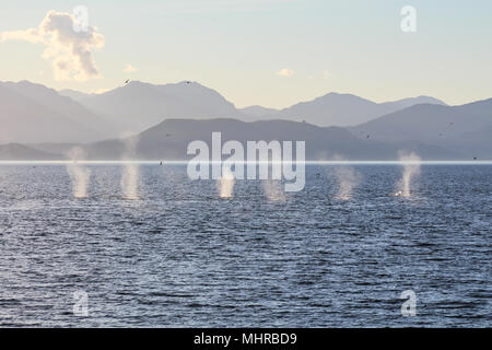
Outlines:
[[[417, 144], [387, 144], [374, 140], [361, 140], [348, 130], [338, 127], [321, 128], [307, 122], [288, 120], [265, 120], [244, 122], [236, 119], [167, 119], [141, 132], [134, 140], [133, 158], [139, 160], [184, 161], [187, 145], [194, 140], [211, 144], [213, 131], [222, 132], [222, 142], [237, 140], [246, 149], [248, 140], [306, 141], [306, 158], [312, 161], [333, 160], [397, 160], [401, 149], [424, 153], [426, 159], [456, 159], [457, 154]], [[128, 153], [127, 140], [107, 140], [87, 145], [90, 159], [118, 160]]]

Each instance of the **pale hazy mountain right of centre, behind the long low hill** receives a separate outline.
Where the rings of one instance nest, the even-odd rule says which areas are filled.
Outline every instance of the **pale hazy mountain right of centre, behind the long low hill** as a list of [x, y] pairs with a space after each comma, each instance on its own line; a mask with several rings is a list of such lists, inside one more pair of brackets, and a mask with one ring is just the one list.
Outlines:
[[352, 94], [329, 93], [284, 108], [273, 116], [297, 121], [305, 120], [318, 126], [347, 127], [421, 103], [444, 104], [442, 101], [427, 96], [378, 104]]

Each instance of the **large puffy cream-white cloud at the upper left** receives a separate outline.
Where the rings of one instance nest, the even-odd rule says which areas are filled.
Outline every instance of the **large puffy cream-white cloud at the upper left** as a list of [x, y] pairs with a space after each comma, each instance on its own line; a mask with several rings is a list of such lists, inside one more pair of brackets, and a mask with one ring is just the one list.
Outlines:
[[99, 78], [92, 49], [104, 47], [104, 35], [92, 26], [75, 32], [74, 22], [72, 14], [50, 10], [37, 28], [0, 32], [0, 43], [23, 40], [45, 45], [43, 58], [51, 61], [56, 80]]

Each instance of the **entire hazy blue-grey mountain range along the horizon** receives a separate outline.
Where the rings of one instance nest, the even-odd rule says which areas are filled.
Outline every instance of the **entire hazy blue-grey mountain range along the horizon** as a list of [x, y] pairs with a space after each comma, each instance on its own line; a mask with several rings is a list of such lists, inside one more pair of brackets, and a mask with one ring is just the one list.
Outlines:
[[0, 82], [2, 160], [26, 160], [30, 150], [32, 160], [59, 159], [75, 144], [92, 159], [120, 159], [128, 136], [138, 136], [141, 159], [183, 160], [187, 142], [212, 131], [239, 141], [305, 140], [309, 160], [391, 160], [401, 149], [429, 160], [491, 160], [492, 98], [448, 106], [429, 96], [375, 103], [329, 93], [284, 109], [236, 108], [191, 81], [134, 81], [102, 94]]

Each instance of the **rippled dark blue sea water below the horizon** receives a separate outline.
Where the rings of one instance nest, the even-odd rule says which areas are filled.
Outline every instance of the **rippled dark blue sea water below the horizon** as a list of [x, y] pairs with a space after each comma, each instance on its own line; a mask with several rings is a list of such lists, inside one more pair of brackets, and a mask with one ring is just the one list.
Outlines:
[[311, 165], [232, 198], [180, 165], [86, 167], [75, 198], [65, 165], [0, 165], [0, 326], [492, 326], [492, 165], [423, 165], [410, 197], [399, 165]]

